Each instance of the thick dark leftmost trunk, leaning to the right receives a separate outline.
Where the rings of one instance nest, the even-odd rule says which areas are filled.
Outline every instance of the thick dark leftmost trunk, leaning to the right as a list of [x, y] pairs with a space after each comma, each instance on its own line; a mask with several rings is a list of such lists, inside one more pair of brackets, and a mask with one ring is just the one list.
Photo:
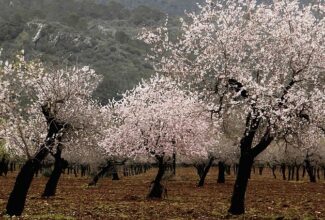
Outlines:
[[22, 166], [10, 193], [6, 207], [6, 214], [10, 216], [20, 216], [24, 210], [26, 196], [32, 183], [35, 171], [40, 166], [41, 161], [48, 155], [48, 148], [43, 146], [34, 159], [29, 159]]

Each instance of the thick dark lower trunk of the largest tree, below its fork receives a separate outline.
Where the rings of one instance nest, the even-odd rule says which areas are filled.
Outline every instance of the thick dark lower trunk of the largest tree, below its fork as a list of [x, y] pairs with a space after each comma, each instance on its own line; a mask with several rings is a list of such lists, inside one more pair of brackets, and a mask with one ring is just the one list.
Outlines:
[[240, 156], [237, 178], [231, 197], [231, 206], [228, 210], [231, 214], [240, 215], [245, 212], [245, 193], [253, 162], [254, 157], [249, 152], [245, 152]]

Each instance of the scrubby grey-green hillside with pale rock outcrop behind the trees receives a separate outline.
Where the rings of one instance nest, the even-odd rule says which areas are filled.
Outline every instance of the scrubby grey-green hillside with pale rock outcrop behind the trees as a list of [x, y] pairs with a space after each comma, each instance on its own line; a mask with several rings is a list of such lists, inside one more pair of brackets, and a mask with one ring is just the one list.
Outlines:
[[0, 0], [0, 48], [4, 58], [24, 49], [48, 65], [90, 65], [104, 75], [95, 96], [103, 103], [150, 76], [146, 45], [135, 39], [165, 14], [146, 6], [128, 9], [80, 0]]

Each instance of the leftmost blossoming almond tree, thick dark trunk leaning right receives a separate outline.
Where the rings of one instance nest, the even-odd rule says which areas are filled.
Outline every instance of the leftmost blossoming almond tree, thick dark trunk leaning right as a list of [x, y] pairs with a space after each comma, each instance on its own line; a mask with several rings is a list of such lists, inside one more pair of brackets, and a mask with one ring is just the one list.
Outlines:
[[[91, 101], [100, 77], [88, 67], [45, 70], [41, 63], [27, 62], [21, 55], [13, 63], [6, 62], [1, 71], [9, 91], [7, 146], [27, 156], [7, 204], [7, 214], [21, 215], [34, 173], [45, 157], [52, 154], [61, 164], [64, 141], [95, 131], [101, 121], [94, 116]], [[55, 192], [59, 177], [53, 172], [45, 192]]]

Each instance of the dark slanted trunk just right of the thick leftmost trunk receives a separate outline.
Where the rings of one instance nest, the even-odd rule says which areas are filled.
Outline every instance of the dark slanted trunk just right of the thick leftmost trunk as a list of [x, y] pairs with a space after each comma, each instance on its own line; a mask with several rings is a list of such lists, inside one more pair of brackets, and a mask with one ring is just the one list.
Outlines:
[[61, 158], [62, 149], [61, 145], [57, 146], [57, 152], [54, 155], [54, 169], [51, 173], [50, 178], [48, 179], [42, 197], [55, 196], [56, 188], [59, 183], [59, 179], [63, 170], [68, 166], [68, 162]]

